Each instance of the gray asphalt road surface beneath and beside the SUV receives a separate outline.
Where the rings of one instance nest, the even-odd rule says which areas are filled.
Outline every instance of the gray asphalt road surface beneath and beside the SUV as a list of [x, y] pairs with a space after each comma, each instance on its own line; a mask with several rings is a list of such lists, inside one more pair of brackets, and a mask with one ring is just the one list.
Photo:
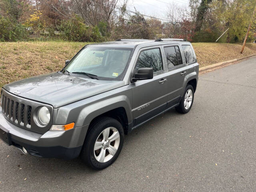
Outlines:
[[256, 191], [256, 57], [199, 78], [188, 114], [170, 110], [125, 136], [105, 170], [0, 141], [0, 191]]

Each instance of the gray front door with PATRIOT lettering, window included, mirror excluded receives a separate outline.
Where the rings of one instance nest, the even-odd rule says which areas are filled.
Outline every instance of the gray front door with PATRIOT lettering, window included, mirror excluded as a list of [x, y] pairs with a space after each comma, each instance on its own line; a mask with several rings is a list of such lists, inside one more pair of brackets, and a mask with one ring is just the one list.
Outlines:
[[139, 68], [153, 68], [154, 77], [131, 84], [133, 94], [133, 126], [138, 126], [166, 109], [168, 101], [167, 76], [161, 46], [143, 48], [138, 54], [134, 73]]

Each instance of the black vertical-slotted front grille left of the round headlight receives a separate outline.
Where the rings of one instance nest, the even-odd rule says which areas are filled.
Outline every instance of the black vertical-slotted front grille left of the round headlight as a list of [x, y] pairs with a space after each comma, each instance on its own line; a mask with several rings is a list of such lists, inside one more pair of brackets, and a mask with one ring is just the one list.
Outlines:
[[4, 116], [11, 122], [22, 127], [26, 126], [26, 128], [31, 127], [31, 106], [14, 101], [4, 94], [2, 95], [1, 104]]

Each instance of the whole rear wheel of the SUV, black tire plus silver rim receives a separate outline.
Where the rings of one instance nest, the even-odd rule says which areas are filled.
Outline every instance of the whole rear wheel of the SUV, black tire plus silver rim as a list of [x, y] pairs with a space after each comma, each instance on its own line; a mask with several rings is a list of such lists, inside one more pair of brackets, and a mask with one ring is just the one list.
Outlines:
[[[188, 94], [189, 90], [191, 90], [190, 96], [192, 95], [192, 98], [191, 97], [189, 97], [189, 98], [187, 97], [187, 94]], [[186, 101], [186, 106], [185, 106], [185, 101]], [[186, 114], [192, 108], [193, 102], [194, 102], [194, 88], [193, 88], [192, 85], [188, 84], [186, 86], [185, 92], [184, 92], [184, 94], [183, 94], [183, 96], [181, 98], [179, 106], [177, 106], [175, 109], [179, 113]]]

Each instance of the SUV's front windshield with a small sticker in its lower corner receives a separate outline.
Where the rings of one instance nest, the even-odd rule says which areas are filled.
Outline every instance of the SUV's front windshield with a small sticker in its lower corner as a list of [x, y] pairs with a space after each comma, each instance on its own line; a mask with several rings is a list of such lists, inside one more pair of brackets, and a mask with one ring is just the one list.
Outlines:
[[131, 52], [131, 48], [85, 47], [62, 71], [101, 80], [122, 80]]

